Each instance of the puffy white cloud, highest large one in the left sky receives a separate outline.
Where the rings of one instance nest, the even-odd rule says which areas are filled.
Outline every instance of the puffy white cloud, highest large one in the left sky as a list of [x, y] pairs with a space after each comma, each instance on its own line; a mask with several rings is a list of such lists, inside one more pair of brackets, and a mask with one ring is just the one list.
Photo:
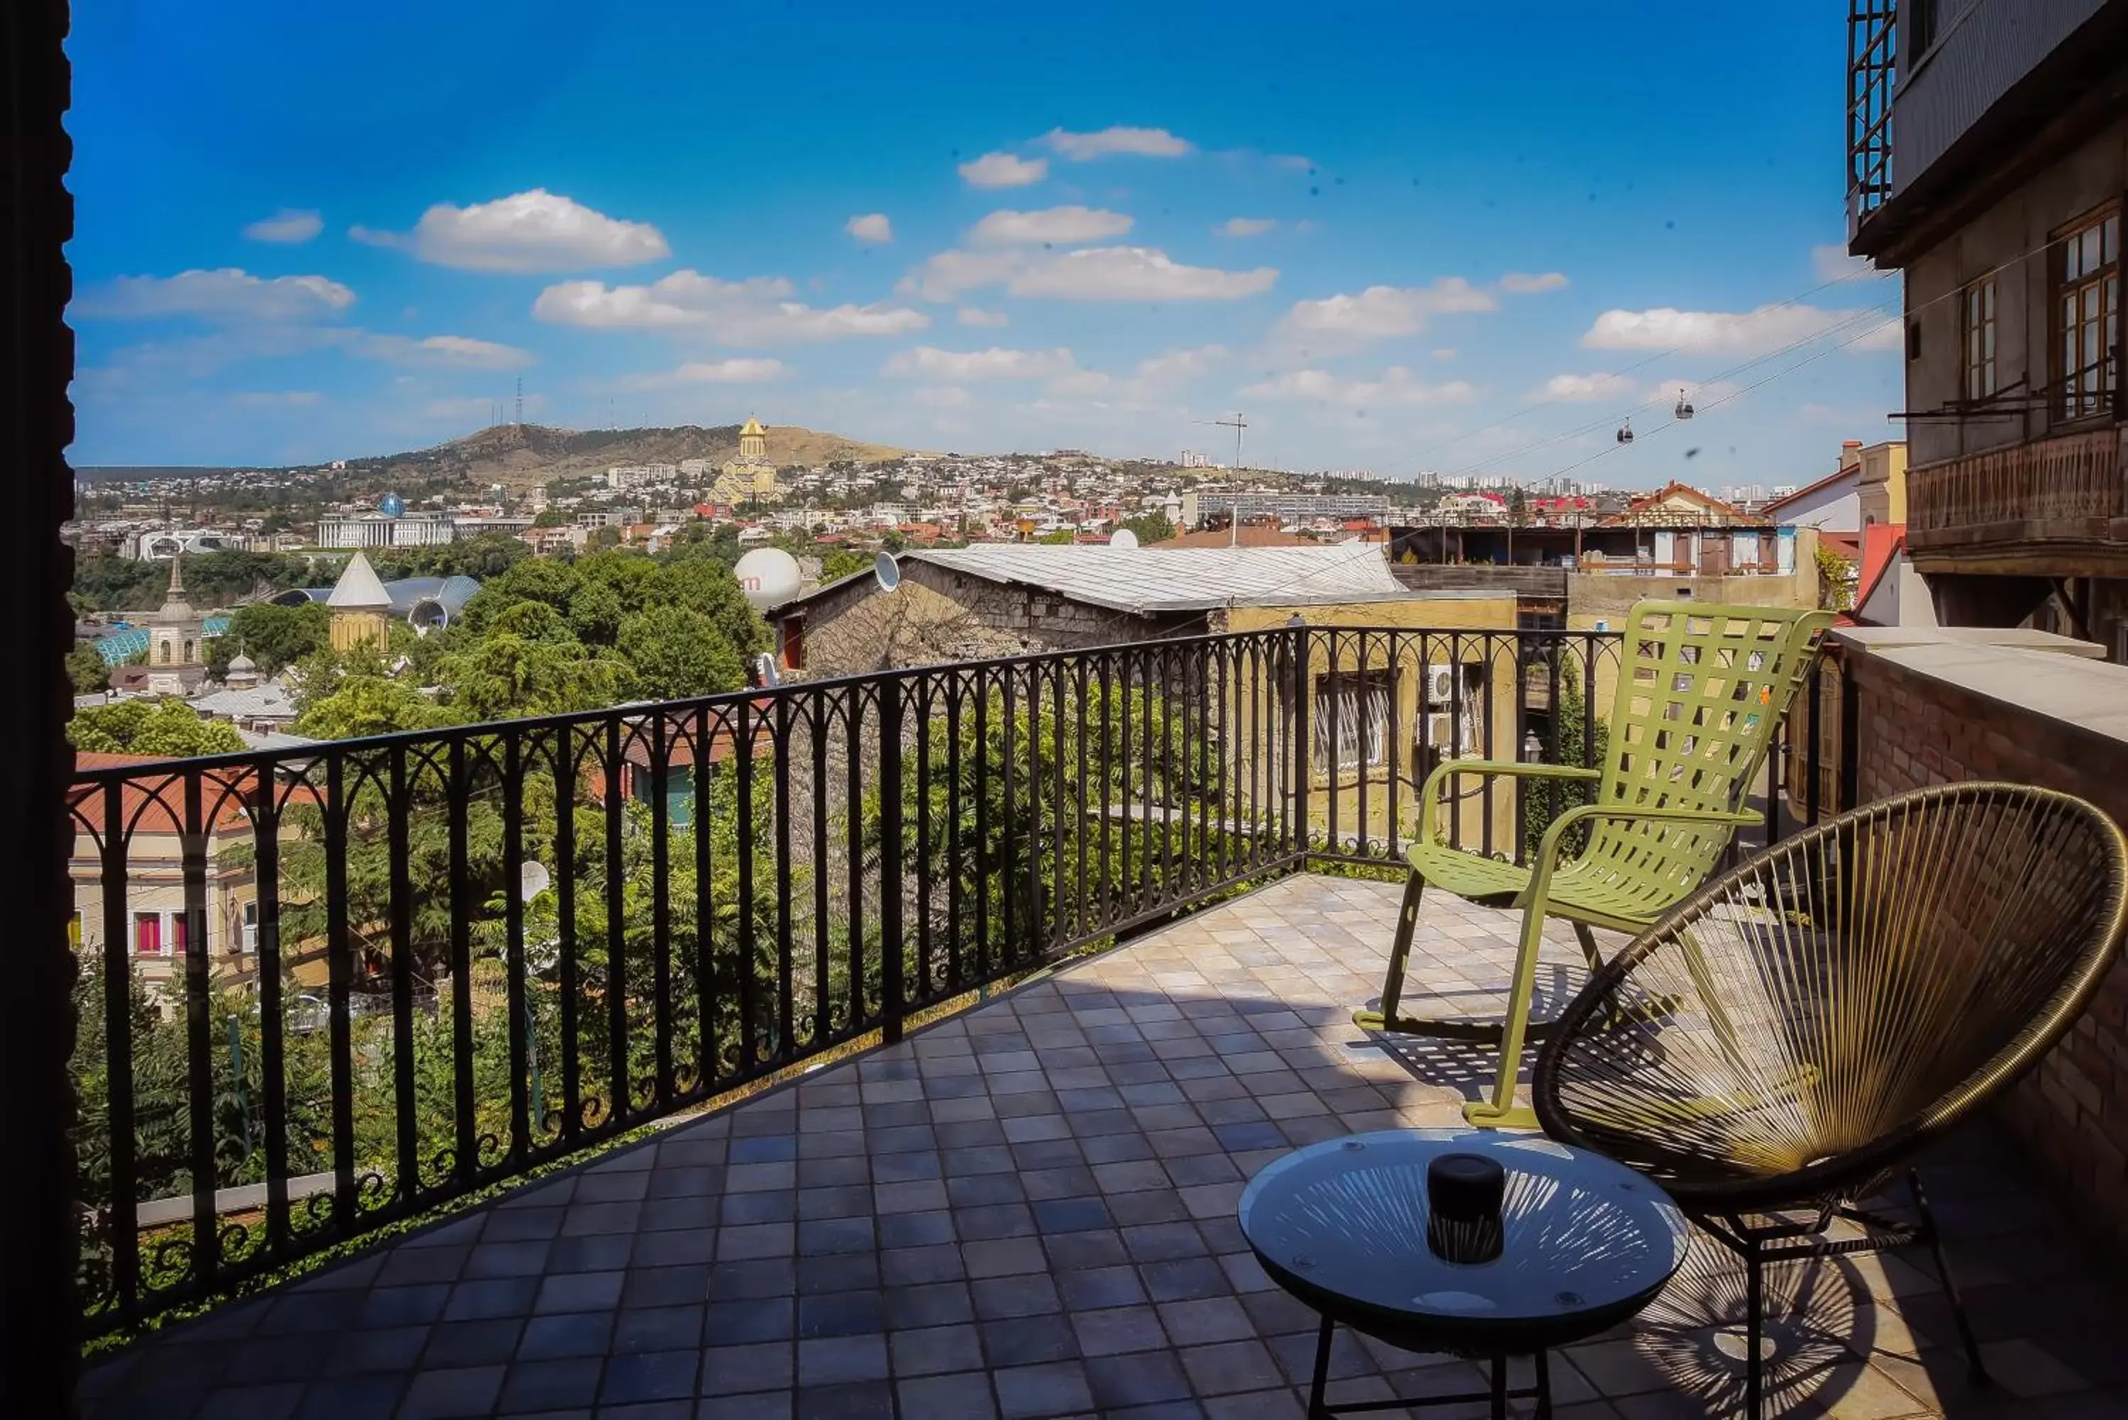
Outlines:
[[641, 266], [672, 255], [672, 247], [651, 224], [606, 217], [545, 187], [472, 207], [436, 202], [421, 213], [413, 232], [358, 226], [349, 236], [372, 247], [404, 247], [423, 262], [466, 270]]

